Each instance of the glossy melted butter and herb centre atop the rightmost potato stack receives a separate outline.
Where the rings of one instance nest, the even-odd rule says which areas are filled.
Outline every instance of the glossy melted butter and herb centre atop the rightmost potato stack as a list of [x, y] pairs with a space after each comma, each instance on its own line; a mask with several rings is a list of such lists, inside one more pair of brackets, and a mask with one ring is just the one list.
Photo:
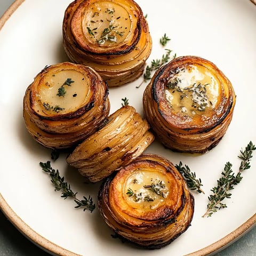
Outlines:
[[179, 68], [167, 82], [166, 100], [176, 113], [202, 115], [218, 103], [221, 85], [218, 78], [202, 65]]

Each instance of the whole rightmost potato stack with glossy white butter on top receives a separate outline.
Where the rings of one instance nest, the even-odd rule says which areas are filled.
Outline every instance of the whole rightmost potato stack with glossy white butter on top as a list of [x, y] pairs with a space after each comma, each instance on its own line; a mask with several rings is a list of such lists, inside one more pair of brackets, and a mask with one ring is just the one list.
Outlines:
[[205, 153], [215, 147], [231, 122], [236, 95], [212, 62], [176, 58], [159, 68], [143, 94], [146, 119], [164, 146]]

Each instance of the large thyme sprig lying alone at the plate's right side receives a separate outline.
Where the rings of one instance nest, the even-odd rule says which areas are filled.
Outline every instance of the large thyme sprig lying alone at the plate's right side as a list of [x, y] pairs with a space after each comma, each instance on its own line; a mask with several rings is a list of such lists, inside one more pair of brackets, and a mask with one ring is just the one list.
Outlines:
[[240, 150], [238, 157], [242, 161], [237, 174], [232, 171], [232, 164], [230, 162], [225, 164], [224, 171], [221, 172], [222, 177], [217, 180], [217, 186], [211, 189], [213, 194], [208, 197], [210, 202], [207, 204], [207, 211], [203, 217], [211, 217], [214, 212], [227, 207], [227, 204], [222, 203], [222, 201], [225, 198], [231, 197], [230, 190], [234, 189], [234, 186], [243, 179], [242, 171], [250, 169], [252, 151], [255, 149], [256, 147], [250, 141], [245, 150]]

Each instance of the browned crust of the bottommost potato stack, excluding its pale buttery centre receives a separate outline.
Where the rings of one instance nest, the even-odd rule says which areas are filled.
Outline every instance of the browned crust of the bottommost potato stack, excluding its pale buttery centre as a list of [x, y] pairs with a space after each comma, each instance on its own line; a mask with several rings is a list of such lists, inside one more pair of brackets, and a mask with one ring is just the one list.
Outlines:
[[[142, 212], [140, 203], [138, 206], [129, 205], [124, 189], [130, 175], [139, 169], [163, 173], [172, 187], [159, 207]], [[190, 226], [194, 197], [170, 161], [162, 156], [146, 154], [102, 183], [98, 207], [102, 218], [118, 237], [147, 249], [159, 249], [170, 244]]]

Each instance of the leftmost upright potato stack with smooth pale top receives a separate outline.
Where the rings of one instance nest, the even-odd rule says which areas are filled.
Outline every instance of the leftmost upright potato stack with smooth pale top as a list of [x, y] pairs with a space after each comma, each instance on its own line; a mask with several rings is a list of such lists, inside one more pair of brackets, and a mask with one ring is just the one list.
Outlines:
[[90, 67], [62, 62], [45, 67], [23, 99], [23, 117], [34, 139], [62, 149], [97, 131], [109, 114], [108, 89]]

